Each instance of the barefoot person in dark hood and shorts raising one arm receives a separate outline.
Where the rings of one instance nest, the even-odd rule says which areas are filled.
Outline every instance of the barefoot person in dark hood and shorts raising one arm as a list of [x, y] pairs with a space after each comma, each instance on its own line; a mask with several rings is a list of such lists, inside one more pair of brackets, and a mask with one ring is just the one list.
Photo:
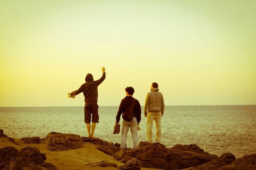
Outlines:
[[[85, 83], [80, 86], [76, 91], [73, 91], [73, 95], [78, 95], [83, 92], [85, 96], [85, 123], [88, 131], [88, 137], [94, 138], [94, 130], [96, 123], [99, 123], [99, 114], [98, 114], [98, 86], [105, 80], [106, 72], [105, 67], [101, 68], [103, 74], [102, 77], [96, 81], [93, 80], [92, 74], [87, 74], [85, 77]], [[92, 122], [92, 124], [90, 124]]]

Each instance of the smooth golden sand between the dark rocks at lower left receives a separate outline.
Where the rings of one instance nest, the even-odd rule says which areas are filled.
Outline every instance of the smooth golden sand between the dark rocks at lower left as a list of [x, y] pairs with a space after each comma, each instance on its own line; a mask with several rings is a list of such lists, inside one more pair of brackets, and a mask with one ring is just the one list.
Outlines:
[[[13, 138], [15, 142], [18, 143], [18, 145], [14, 144], [13, 142], [10, 142], [8, 138], [0, 137], [0, 148], [12, 146], [14, 148], [17, 148], [19, 151], [22, 148], [25, 147], [36, 147], [38, 148], [41, 153], [45, 153], [47, 159], [45, 162], [51, 163], [57, 167], [59, 170], [83, 170], [83, 169], [90, 169], [90, 170], [98, 170], [98, 169], [107, 169], [107, 170], [115, 170], [118, 168], [115, 167], [99, 167], [99, 166], [93, 166], [86, 165], [89, 163], [95, 163], [95, 162], [110, 162], [110, 163], [116, 163], [118, 166], [124, 165], [124, 163], [121, 163], [113, 158], [113, 156], [109, 156], [105, 154], [102, 151], [99, 151], [95, 148], [94, 145], [90, 143], [85, 143], [82, 148], [79, 149], [73, 149], [73, 150], [67, 150], [67, 151], [49, 151], [46, 149], [46, 144], [26, 144], [23, 143], [20, 139]], [[44, 170], [46, 168], [42, 167]], [[24, 170], [28, 170], [29, 167], [23, 168]], [[142, 170], [153, 170], [153, 168], [141, 168]]]

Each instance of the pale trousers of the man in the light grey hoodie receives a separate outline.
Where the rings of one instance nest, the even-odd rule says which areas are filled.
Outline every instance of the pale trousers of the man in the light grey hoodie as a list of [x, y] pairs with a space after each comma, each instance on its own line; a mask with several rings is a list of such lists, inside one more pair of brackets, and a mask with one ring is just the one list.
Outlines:
[[155, 120], [156, 139], [161, 142], [161, 113], [147, 113], [147, 141], [152, 142], [152, 128]]

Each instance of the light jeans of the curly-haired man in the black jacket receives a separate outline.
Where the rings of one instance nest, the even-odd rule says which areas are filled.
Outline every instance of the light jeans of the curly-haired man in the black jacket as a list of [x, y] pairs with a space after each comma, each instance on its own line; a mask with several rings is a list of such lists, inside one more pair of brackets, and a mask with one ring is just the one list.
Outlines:
[[121, 145], [120, 145], [121, 149], [126, 148], [126, 138], [127, 138], [129, 127], [131, 130], [131, 137], [133, 138], [133, 148], [134, 149], [138, 148], [137, 118], [133, 117], [133, 120], [131, 120], [130, 122], [123, 120]]

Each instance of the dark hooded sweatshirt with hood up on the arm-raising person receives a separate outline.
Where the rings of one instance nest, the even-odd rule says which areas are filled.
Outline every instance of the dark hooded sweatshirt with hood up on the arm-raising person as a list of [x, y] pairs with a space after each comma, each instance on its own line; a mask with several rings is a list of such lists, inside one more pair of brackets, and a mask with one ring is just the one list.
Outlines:
[[103, 72], [102, 77], [96, 81], [93, 81], [92, 74], [87, 74], [85, 77], [85, 83], [75, 91], [75, 95], [83, 92], [83, 95], [85, 96], [85, 103], [98, 102], [98, 86], [103, 82], [103, 80], [105, 80], [105, 78], [105, 72]]

